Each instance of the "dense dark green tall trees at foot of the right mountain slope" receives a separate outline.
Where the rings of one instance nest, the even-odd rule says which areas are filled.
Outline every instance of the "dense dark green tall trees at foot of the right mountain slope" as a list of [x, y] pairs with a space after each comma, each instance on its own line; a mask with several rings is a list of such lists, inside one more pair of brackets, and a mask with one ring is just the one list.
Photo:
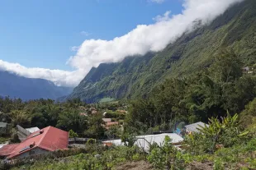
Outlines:
[[[138, 131], [174, 130], [178, 122], [207, 122], [208, 117], [240, 113], [256, 97], [256, 77], [243, 75], [241, 62], [224, 50], [211, 67], [184, 79], [166, 80], [147, 99], [130, 102], [127, 126]], [[149, 129], [151, 128], [151, 129]]]

